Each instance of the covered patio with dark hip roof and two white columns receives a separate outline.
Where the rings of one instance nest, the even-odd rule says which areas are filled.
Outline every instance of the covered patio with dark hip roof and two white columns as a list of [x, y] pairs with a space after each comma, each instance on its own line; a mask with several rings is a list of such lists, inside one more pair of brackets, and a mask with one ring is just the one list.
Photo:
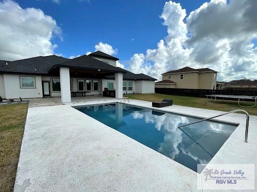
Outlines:
[[[90, 78], [93, 81], [97, 81], [97, 91], [99, 94], [102, 94], [104, 89], [102, 79], [104, 79], [106, 76], [114, 75], [115, 98], [122, 98], [123, 73], [126, 73], [124, 69], [112, 66], [110, 64], [105, 64], [87, 55], [79, 56], [63, 62], [62, 64], [56, 64], [48, 71], [50, 76], [60, 76], [60, 93], [62, 103], [71, 102], [71, 94], [74, 92], [87, 92], [86, 88], [83, 91], [79, 90], [79, 88], [77, 88], [77, 90], [73, 89], [71, 84], [74, 83], [71, 78], [77, 81], [77, 85], [79, 84], [78, 80], [81, 78]], [[95, 90], [91, 90], [90, 88], [90, 91], [93, 92]]]

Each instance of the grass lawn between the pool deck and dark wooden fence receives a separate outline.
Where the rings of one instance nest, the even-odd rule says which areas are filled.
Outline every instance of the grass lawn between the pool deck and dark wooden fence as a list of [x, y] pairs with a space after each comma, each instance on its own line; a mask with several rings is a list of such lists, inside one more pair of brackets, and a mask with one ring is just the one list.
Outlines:
[[[126, 94], [131, 99], [147, 100], [147, 101], [161, 101], [164, 98], [173, 99], [173, 104], [192, 106], [197, 108], [207, 108], [213, 110], [230, 111], [234, 109], [246, 110], [249, 114], [257, 115], [257, 106], [254, 107], [240, 107], [236, 100], [220, 100], [217, 99], [216, 103], [208, 103], [206, 98], [190, 97], [190, 96], [177, 96], [177, 95], [167, 95], [167, 94]], [[243, 104], [243, 103], [242, 103]], [[246, 102], [246, 105], [253, 105], [253, 102]]]

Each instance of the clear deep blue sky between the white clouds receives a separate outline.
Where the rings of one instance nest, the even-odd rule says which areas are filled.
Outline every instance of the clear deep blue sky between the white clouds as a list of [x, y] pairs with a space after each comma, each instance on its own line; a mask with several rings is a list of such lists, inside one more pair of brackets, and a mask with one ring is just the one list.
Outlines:
[[[176, 0], [187, 13], [198, 8], [206, 0]], [[118, 49], [115, 55], [120, 61], [129, 60], [134, 53], [145, 53], [155, 48], [157, 42], [167, 35], [162, 24], [166, 0], [17, 0], [22, 8], [40, 8], [52, 16], [62, 28], [63, 41], [56, 53], [66, 57], [94, 51], [99, 41]], [[134, 39], [134, 40], [133, 40]]]

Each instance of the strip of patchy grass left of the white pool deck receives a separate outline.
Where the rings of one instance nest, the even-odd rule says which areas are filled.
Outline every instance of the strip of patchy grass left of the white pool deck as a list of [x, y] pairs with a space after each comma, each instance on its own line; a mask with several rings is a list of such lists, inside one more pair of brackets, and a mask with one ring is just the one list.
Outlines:
[[28, 104], [0, 105], [0, 191], [13, 191]]

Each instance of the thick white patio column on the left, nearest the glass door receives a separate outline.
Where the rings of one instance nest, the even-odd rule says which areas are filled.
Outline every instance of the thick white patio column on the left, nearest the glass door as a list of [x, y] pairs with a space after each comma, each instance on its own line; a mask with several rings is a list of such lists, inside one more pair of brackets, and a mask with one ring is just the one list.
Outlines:
[[71, 102], [70, 98], [70, 69], [66, 67], [60, 68], [61, 83], [61, 100], [62, 102]]

